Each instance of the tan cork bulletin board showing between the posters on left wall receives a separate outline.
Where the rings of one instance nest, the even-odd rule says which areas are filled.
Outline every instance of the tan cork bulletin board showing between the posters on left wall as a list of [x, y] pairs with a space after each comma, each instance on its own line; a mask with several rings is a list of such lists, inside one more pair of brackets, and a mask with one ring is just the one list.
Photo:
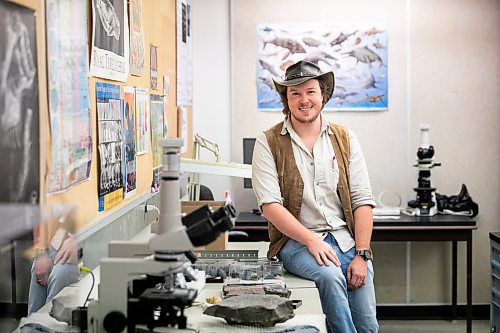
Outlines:
[[[3, 0], [2, 0], [3, 1]], [[142, 24], [144, 35], [144, 72], [142, 76], [128, 75], [127, 82], [111, 81], [107, 79], [89, 77], [89, 100], [90, 115], [92, 124], [92, 162], [90, 177], [88, 180], [69, 187], [68, 190], [47, 194], [46, 180], [50, 167], [51, 137], [48, 116], [48, 93], [46, 74], [46, 55], [44, 46], [45, 22], [43, 20], [44, 3], [42, 0], [13, 1], [22, 6], [32, 8], [36, 11], [37, 30], [37, 63], [38, 68], [43, 69], [38, 73], [39, 81], [39, 119], [40, 119], [40, 204], [62, 203], [75, 207], [76, 229], [80, 230], [86, 226], [99, 221], [108, 214], [116, 211], [120, 207], [127, 205], [132, 200], [151, 192], [153, 179], [153, 152], [151, 146], [151, 136], [149, 137], [148, 150], [145, 154], [137, 156], [137, 182], [134, 195], [124, 199], [120, 204], [105, 211], [98, 211], [98, 148], [97, 148], [97, 116], [96, 116], [96, 82], [112, 83], [123, 86], [143, 87], [149, 90], [150, 94], [163, 94], [163, 76], [169, 77], [170, 89], [167, 96], [167, 136], [178, 136], [178, 111], [177, 111], [177, 90], [176, 90], [176, 1], [175, 0], [147, 0], [142, 1]], [[89, 50], [92, 42], [92, 3], [88, 1], [89, 11]], [[151, 89], [150, 73], [150, 46], [155, 46], [157, 55], [156, 73], [157, 88]], [[90, 58], [90, 55], [89, 55]], [[123, 98], [123, 95], [121, 96]], [[187, 107], [188, 138], [192, 138], [192, 108]], [[191, 156], [192, 139], [185, 143], [187, 151], [185, 156]]]

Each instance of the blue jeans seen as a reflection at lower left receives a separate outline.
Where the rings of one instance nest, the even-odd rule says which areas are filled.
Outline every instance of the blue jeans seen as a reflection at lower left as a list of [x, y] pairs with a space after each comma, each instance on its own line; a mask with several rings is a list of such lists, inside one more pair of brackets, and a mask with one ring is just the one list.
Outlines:
[[[57, 251], [51, 248], [49, 257], [54, 260], [56, 254]], [[28, 316], [50, 302], [64, 287], [76, 281], [78, 281], [77, 264], [56, 264], [52, 267], [52, 271], [49, 274], [49, 283], [47, 286], [41, 286], [36, 283], [35, 261], [33, 261], [28, 295]]]

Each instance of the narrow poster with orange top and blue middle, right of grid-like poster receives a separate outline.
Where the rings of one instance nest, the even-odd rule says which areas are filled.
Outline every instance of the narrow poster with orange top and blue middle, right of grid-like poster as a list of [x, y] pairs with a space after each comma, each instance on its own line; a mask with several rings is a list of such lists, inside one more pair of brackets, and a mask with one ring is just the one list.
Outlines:
[[123, 188], [125, 199], [135, 194], [137, 186], [135, 132], [135, 88], [123, 87]]

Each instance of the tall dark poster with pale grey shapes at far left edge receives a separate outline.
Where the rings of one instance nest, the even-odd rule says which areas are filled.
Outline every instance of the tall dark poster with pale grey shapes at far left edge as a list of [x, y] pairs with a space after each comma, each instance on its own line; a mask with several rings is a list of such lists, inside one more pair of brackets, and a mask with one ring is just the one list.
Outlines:
[[40, 200], [35, 15], [0, 2], [0, 202]]

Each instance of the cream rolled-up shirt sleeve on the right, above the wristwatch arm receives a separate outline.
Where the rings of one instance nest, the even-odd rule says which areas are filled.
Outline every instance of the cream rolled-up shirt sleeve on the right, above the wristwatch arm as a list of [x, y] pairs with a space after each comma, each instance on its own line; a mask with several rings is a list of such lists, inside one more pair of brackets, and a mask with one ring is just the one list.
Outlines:
[[349, 185], [351, 188], [352, 209], [355, 210], [363, 205], [375, 207], [365, 158], [358, 138], [352, 131], [349, 131], [349, 141], [351, 146], [349, 155]]

